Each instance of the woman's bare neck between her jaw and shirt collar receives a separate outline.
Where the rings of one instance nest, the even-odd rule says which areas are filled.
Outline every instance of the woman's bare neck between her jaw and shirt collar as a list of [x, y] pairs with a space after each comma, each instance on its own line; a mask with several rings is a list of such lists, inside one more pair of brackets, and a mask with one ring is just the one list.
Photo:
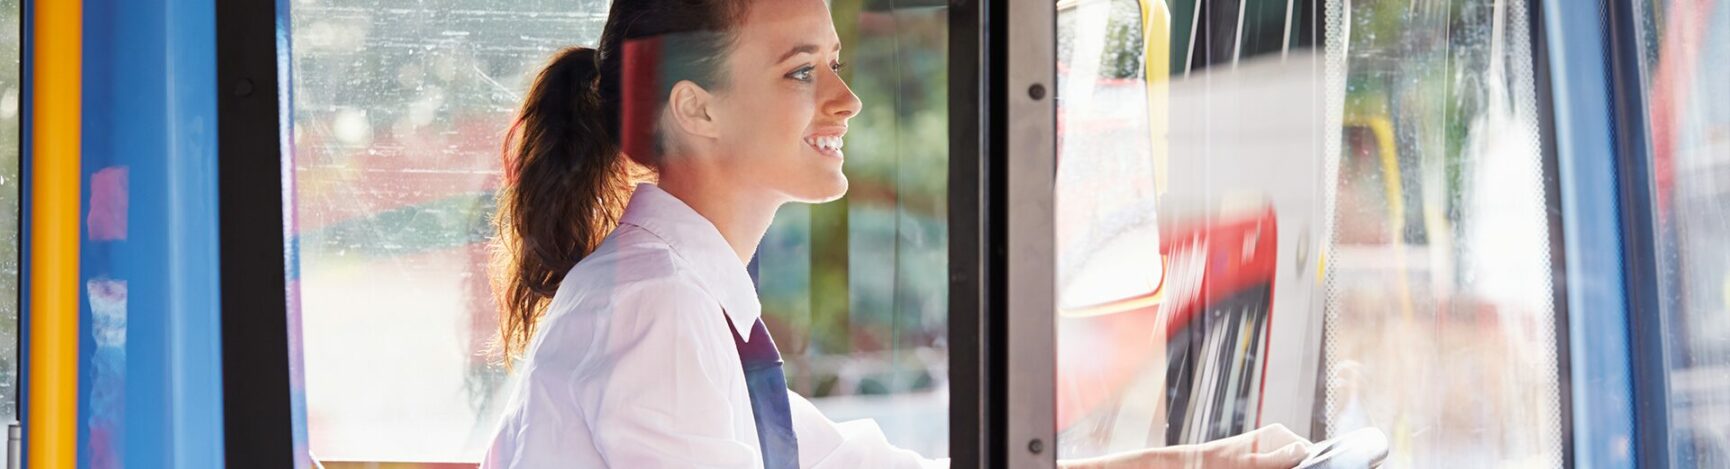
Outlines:
[[740, 263], [751, 263], [763, 234], [775, 222], [775, 209], [780, 208], [780, 201], [740, 190], [737, 182], [663, 173], [656, 185], [714, 223]]

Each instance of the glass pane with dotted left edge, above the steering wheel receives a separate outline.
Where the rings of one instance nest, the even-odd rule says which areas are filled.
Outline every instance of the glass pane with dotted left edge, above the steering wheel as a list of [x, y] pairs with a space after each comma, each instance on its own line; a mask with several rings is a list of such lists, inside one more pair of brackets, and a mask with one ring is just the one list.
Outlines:
[[1325, 427], [1394, 467], [1564, 462], [1531, 2], [1329, 2]]

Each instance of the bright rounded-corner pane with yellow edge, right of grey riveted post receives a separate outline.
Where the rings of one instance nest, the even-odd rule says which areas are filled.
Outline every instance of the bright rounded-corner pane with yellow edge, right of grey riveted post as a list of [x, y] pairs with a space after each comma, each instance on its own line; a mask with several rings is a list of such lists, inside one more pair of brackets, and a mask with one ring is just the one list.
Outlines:
[[1164, 277], [1154, 209], [1164, 135], [1150, 128], [1142, 5], [1057, 7], [1059, 305], [1071, 315], [1133, 308]]

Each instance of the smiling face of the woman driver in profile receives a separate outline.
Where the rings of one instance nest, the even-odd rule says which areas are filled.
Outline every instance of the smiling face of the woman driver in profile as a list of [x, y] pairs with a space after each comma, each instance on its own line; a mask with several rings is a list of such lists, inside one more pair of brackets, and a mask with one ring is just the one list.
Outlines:
[[777, 199], [822, 202], [848, 190], [841, 137], [860, 99], [841, 81], [841, 38], [823, 0], [749, 0], [714, 112], [716, 170]]

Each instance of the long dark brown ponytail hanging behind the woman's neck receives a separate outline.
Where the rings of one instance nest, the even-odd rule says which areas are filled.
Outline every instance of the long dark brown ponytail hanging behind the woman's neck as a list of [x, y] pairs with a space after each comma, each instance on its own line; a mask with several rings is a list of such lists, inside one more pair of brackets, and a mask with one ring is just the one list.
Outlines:
[[609, 130], [597, 52], [561, 50], [505, 133], [493, 294], [505, 363], [521, 357], [559, 282], [618, 227], [630, 171]]

